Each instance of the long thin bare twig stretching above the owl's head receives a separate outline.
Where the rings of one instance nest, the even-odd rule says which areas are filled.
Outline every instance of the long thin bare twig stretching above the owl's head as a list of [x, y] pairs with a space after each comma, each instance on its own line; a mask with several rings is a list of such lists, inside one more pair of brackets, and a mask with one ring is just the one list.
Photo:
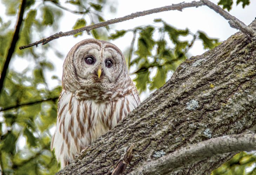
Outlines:
[[164, 7], [154, 8], [154, 9], [150, 9], [150, 10], [145, 10], [143, 12], [136, 12], [136, 13], [132, 13], [132, 14], [127, 15], [127, 16], [123, 16], [121, 18], [115, 18], [115, 19], [108, 20], [108, 21], [105, 21], [105, 22], [100, 22], [100, 23], [97, 23], [97, 24], [94, 24], [94, 25], [81, 27], [79, 29], [66, 31], [64, 33], [59, 32], [59, 33], [51, 35], [47, 38], [43, 38], [40, 41], [34, 42], [32, 44], [23, 45], [23, 46], [20, 47], [20, 49], [25, 49], [25, 48], [28, 48], [28, 47], [32, 47], [34, 45], [37, 46], [40, 43], [42, 43], [42, 45], [44, 45], [44, 44], [47, 44], [48, 42], [50, 42], [52, 40], [55, 40], [59, 37], [75, 35], [75, 34], [80, 33], [82, 31], [87, 31], [87, 33], [89, 33], [90, 30], [100, 28], [100, 27], [105, 27], [105, 26], [108, 26], [110, 24], [114, 24], [114, 23], [118, 23], [118, 22], [122, 22], [122, 21], [127, 21], [127, 20], [134, 19], [134, 18], [137, 18], [137, 17], [140, 17], [140, 16], [145, 16], [145, 15], [164, 12], [164, 11], [169, 11], [169, 10], [182, 11], [183, 8], [199, 7], [199, 6], [202, 6], [202, 5], [204, 5], [204, 3], [201, 2], [201, 1], [193, 1], [193, 2], [188, 2], [188, 3], [182, 2], [182, 3], [178, 3], [178, 4], [173, 4], [173, 5], [170, 5], [170, 6], [164, 6]]

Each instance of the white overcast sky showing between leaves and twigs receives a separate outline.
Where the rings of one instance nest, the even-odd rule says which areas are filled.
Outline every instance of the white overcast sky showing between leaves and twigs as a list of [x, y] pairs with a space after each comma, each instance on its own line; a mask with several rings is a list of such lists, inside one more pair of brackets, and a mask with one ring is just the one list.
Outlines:
[[[134, 12], [162, 7], [171, 5], [172, 3], [180, 3], [180, 2], [191, 2], [192, 0], [107, 0], [109, 4], [111, 3], [118, 3], [116, 5], [116, 13], [109, 13], [108, 9], [103, 10], [105, 11], [103, 17], [105, 20], [113, 19], [113, 18], [119, 18]], [[216, 3], [219, 0], [211, 0], [212, 2]], [[236, 2], [236, 0], [233, 0]], [[39, 3], [40, 1], [38, 1]], [[72, 8], [74, 6], [70, 6], [67, 3], [65, 3], [65, 0], [60, 0], [61, 4], [63, 6], [66, 6], [68, 8]], [[41, 3], [41, 2], [40, 2]], [[50, 3], [50, 2], [47, 2]], [[47, 4], [46, 3], [46, 4]], [[246, 6], [244, 9], [242, 8], [242, 3], [240, 3], [238, 6], [235, 4], [233, 5], [232, 10], [229, 12], [231, 15], [236, 16], [236, 18], [243, 21], [246, 25], [249, 25], [256, 17], [255, 13], [256, 9], [256, 1], [251, 0], [251, 3], [249, 6]], [[3, 16], [5, 13], [5, 8], [3, 5], [0, 6], [0, 15]], [[39, 15], [39, 14], [38, 14]], [[81, 18], [81, 15], [72, 14], [70, 12], [64, 11], [64, 15], [61, 18], [59, 22], [59, 31], [68, 31], [72, 30], [72, 27], [75, 23], [75, 21], [78, 18]], [[238, 30], [231, 28], [228, 24], [228, 21], [225, 20], [220, 14], [217, 14], [213, 10], [211, 10], [209, 7], [202, 6], [202, 7], [191, 7], [183, 9], [182, 12], [180, 11], [167, 11], [167, 12], [161, 12], [156, 14], [151, 14], [147, 16], [142, 16], [139, 18], [135, 18], [129, 21], [124, 21], [120, 23], [116, 23], [114, 25], [110, 25], [111, 31], [114, 32], [114, 30], [121, 30], [121, 29], [132, 29], [136, 26], [143, 26], [143, 25], [156, 25], [153, 20], [156, 18], [162, 18], [164, 21], [169, 23], [170, 25], [178, 28], [178, 29], [185, 29], [188, 28], [191, 32], [195, 33], [197, 30], [204, 31], [209, 37], [213, 38], [219, 38], [220, 41], [226, 40], [229, 36], [236, 33]], [[4, 18], [3, 18], [4, 19]], [[12, 17], [12, 20], [16, 20], [16, 16]], [[45, 32], [45, 36], [53, 34], [51, 30], [48, 30]], [[117, 47], [119, 47], [122, 51], [126, 50], [130, 42], [132, 40], [132, 33], [127, 33], [124, 37], [110, 41], [113, 42]], [[85, 39], [85, 38], [91, 38], [92, 36], [88, 36], [85, 33], [83, 33], [82, 36], [79, 37], [61, 37], [57, 40], [54, 40], [51, 43], [51, 46], [55, 49], [62, 52], [63, 55], [67, 55], [68, 51], [73, 47], [74, 44], [78, 43], [79, 41]], [[41, 38], [38, 38], [41, 39]], [[34, 41], [33, 41], [34, 42]], [[18, 46], [17, 46], [18, 47]], [[44, 47], [42, 45], [39, 45], [38, 48], [36, 48], [38, 51], [40, 51], [41, 47]], [[196, 41], [194, 46], [190, 49], [189, 54], [191, 56], [200, 55], [206, 50], [203, 49], [201, 41]], [[50, 77], [52, 75], [57, 75], [61, 78], [62, 75], [62, 64], [65, 59], [65, 56], [60, 59], [58, 57], [55, 57], [52, 52], [49, 52], [47, 54], [47, 59], [50, 59], [55, 64], [55, 70], [46, 72], [47, 80], [50, 82], [50, 87], [56, 86], [59, 82], [56, 80], [51, 80]], [[27, 66], [33, 66], [34, 64], [30, 61], [26, 61], [24, 58], [15, 58], [12, 59], [11, 67], [15, 70], [22, 71]], [[142, 99], [144, 99], [146, 96], [148, 96], [148, 93], [142, 95]]]

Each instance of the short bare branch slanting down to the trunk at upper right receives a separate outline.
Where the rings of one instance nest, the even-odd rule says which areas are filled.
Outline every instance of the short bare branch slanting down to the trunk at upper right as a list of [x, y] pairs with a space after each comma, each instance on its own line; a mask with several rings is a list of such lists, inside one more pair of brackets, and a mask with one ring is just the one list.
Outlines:
[[228, 12], [223, 10], [220, 6], [215, 5], [215, 3], [209, 0], [201, 0], [204, 5], [213, 9], [215, 12], [223, 16], [226, 20], [229, 21], [229, 25], [235, 29], [241, 30], [244, 34], [249, 36], [255, 36], [255, 32], [252, 28], [246, 26], [242, 21], [238, 20], [235, 16], [230, 15]]

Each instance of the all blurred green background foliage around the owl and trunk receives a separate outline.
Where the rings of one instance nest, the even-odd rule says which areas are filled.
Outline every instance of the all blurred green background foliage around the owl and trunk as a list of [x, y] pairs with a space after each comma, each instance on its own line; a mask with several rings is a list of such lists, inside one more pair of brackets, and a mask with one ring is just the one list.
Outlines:
[[[243, 7], [249, 4], [249, 0], [237, 0], [237, 3], [240, 2]], [[17, 16], [21, 1], [2, 0], [1, 3], [6, 8], [6, 16]], [[227, 9], [231, 8], [232, 3], [232, 0], [219, 2]], [[76, 10], [68, 9], [66, 4]], [[61, 81], [58, 76], [53, 75], [52, 79], [59, 80], [59, 84], [49, 89], [46, 72], [53, 71], [54, 65], [51, 60], [46, 59], [45, 53], [52, 51], [62, 59], [65, 57], [51, 47], [51, 43], [40, 47], [40, 51], [35, 47], [24, 50], [19, 50], [18, 47], [47, 37], [44, 35], [45, 31], [60, 31], [59, 19], [64, 11], [81, 15], [76, 21], [70, 22], [70, 27], [77, 29], [105, 21], [102, 15], [106, 6], [110, 6], [110, 11], [115, 12], [115, 7], [109, 5], [107, 0], [68, 0], [66, 3], [60, 3], [59, 0], [26, 1], [20, 38], [12, 59], [22, 58], [34, 64], [22, 72], [9, 69], [4, 89], [0, 94], [2, 174], [54, 174], [60, 168], [53, 152], [50, 151], [50, 130], [55, 126]], [[86, 16], [90, 20], [85, 20]], [[2, 19], [5, 19], [5, 16], [0, 16], [0, 65], [4, 65], [15, 26], [13, 18], [8, 18], [8, 21]], [[204, 49], [212, 49], [219, 44], [216, 38], [210, 38], [202, 31], [191, 33], [189, 29], [177, 29], [161, 19], [155, 19], [154, 22], [152, 25], [119, 30], [112, 34], [109, 27], [91, 31], [94, 38], [102, 40], [115, 40], [129, 32], [133, 33], [128, 54], [125, 55], [130, 73], [136, 75], [134, 81], [140, 93], [147, 88], [160, 88], [166, 82], [168, 72], [175, 71], [188, 57], [188, 51], [196, 40], [202, 41]], [[74, 37], [82, 34], [76, 34]], [[244, 172], [254, 160], [251, 155], [241, 153], [213, 174], [232, 173], [234, 170]]]

